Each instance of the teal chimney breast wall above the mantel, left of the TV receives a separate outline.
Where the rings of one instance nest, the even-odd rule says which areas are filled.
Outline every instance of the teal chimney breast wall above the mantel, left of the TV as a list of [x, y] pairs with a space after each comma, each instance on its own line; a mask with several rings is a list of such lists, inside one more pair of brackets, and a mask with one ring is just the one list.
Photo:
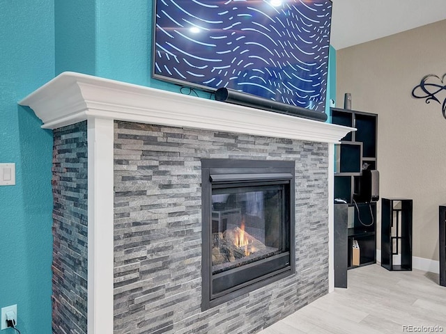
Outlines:
[[56, 1], [56, 75], [82, 72], [179, 91], [151, 79], [152, 1]]

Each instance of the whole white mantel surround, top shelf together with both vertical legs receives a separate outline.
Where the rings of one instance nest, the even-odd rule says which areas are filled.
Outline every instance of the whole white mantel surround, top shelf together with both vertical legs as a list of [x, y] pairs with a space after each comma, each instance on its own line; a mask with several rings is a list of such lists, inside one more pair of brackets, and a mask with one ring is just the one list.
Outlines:
[[88, 120], [89, 334], [113, 333], [114, 120], [328, 143], [329, 290], [334, 289], [334, 144], [355, 129], [74, 72], [59, 74], [19, 104], [30, 106], [46, 129]]

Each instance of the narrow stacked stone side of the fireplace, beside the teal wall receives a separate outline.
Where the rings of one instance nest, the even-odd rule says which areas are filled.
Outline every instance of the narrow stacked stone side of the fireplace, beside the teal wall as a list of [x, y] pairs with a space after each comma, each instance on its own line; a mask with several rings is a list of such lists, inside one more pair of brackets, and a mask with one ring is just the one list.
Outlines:
[[86, 122], [54, 130], [52, 331], [87, 333]]

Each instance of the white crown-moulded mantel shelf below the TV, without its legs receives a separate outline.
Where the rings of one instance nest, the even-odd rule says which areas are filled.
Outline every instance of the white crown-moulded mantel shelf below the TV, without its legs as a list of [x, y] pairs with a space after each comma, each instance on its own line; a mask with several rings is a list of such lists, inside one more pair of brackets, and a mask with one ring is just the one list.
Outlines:
[[30, 106], [47, 129], [99, 117], [322, 143], [338, 143], [348, 132], [355, 131], [74, 72], [59, 74], [19, 104]]

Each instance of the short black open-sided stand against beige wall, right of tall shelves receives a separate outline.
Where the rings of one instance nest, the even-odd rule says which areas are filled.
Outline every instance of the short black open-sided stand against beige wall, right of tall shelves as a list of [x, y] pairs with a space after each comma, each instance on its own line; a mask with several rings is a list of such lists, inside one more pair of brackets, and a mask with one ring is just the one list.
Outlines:
[[[387, 270], [412, 270], [412, 200], [381, 200], [381, 266]], [[401, 264], [394, 264], [394, 255]]]

